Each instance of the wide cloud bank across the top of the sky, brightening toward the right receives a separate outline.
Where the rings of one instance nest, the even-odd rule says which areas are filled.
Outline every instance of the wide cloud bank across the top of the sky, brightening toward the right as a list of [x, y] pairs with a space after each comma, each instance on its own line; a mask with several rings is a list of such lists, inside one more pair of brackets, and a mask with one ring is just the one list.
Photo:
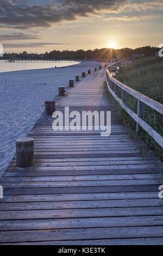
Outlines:
[[[133, 1], [133, 2], [132, 2]], [[27, 5], [22, 0], [0, 0], [0, 29], [48, 28], [58, 22], [76, 21], [79, 17], [111, 13], [128, 14], [139, 12], [142, 15], [122, 15], [106, 17], [108, 20], [139, 21], [147, 19], [144, 11], [163, 9], [163, 1], [139, 2], [139, 0], [57, 0], [46, 5]], [[143, 16], [144, 15], [144, 16]], [[102, 17], [105, 19], [105, 16]], [[105, 19], [105, 20], [106, 20]], [[150, 19], [150, 18], [149, 18]]]

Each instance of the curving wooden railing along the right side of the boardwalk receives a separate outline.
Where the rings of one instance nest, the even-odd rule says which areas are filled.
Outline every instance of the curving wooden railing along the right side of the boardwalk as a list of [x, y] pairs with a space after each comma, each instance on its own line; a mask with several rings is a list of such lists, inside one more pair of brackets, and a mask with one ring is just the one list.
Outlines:
[[[108, 85], [109, 92], [121, 107], [130, 115], [130, 117], [136, 121], [136, 132], [140, 125], [143, 130], [145, 130], [161, 147], [163, 147], [163, 137], [142, 119], [144, 116], [145, 105], [151, 107], [160, 114], [163, 114], [163, 105], [116, 80], [111, 75], [111, 72], [112, 70], [117, 69], [118, 66], [123, 65], [121, 63], [122, 62], [116, 62], [111, 64], [108, 66], [108, 70], [106, 70], [106, 83]], [[118, 88], [122, 89], [121, 99], [118, 96]], [[127, 94], [130, 94], [137, 100], [137, 114], [132, 111], [126, 103], [124, 103]]]

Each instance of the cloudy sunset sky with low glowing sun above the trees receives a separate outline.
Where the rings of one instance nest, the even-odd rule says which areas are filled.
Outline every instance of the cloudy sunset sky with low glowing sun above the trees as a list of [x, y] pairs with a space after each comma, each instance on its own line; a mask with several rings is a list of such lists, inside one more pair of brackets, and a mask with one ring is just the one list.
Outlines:
[[0, 0], [4, 52], [163, 43], [163, 0]]

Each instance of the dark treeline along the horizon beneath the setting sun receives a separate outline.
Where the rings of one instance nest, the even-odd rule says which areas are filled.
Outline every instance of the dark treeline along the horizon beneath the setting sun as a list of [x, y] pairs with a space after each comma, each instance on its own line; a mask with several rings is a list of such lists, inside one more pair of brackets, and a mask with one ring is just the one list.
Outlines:
[[77, 51], [52, 51], [46, 53], [27, 53], [24, 51], [23, 53], [5, 53], [3, 58], [41, 58], [41, 59], [112, 59], [117, 58], [132, 58], [132, 57], [151, 57], [155, 56], [156, 52], [158, 52], [160, 48], [144, 46], [135, 49], [131, 48], [122, 48], [120, 50], [112, 49], [112, 48], [102, 48], [95, 50], [77, 50]]

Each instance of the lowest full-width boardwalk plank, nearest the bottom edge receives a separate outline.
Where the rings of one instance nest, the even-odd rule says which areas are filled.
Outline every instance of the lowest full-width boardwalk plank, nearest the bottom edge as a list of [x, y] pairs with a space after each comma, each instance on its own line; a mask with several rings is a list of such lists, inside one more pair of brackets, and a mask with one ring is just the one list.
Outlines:
[[85, 228], [85, 229], [57, 229], [57, 230], [26, 230], [26, 231], [2, 231], [1, 242], [24, 241], [55, 241], [92, 239], [122, 239], [140, 237], [162, 237], [162, 226], [155, 227], [126, 227], [126, 228]]

